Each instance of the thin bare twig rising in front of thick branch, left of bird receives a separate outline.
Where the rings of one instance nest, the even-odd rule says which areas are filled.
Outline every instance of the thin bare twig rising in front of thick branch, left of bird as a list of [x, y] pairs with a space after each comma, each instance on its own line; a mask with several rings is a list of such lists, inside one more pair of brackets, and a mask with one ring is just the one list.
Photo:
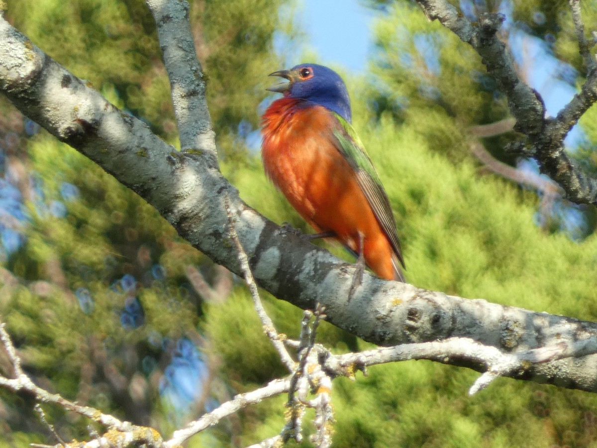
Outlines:
[[294, 372], [294, 369], [296, 369], [296, 362], [293, 360], [293, 358], [290, 356], [290, 353], [288, 353], [288, 350], [284, 346], [283, 340], [286, 336], [276, 332], [276, 327], [273, 325], [269, 315], [267, 315], [267, 312], [263, 307], [263, 303], [261, 303], [261, 297], [259, 297], [257, 283], [255, 283], [253, 273], [251, 272], [251, 268], [249, 266], [247, 253], [245, 253], [245, 250], [241, 244], [241, 240], [238, 239], [238, 234], [236, 234], [236, 229], [234, 227], [234, 217], [232, 216], [232, 210], [230, 210], [229, 197], [226, 197], [225, 204], [226, 214], [228, 216], [228, 222], [230, 225], [230, 238], [232, 238], [232, 241], [234, 241], [234, 244], [236, 245], [236, 250], [238, 250], [238, 260], [241, 263], [241, 270], [245, 275], [245, 282], [247, 283], [247, 287], [251, 292], [251, 297], [253, 297], [253, 303], [255, 304], [255, 309], [257, 310], [257, 314], [261, 319], [261, 324], [263, 324], [263, 331], [267, 337], [269, 337], [269, 340], [272, 341], [274, 348], [278, 351], [282, 363], [284, 363], [288, 371], [292, 373]]

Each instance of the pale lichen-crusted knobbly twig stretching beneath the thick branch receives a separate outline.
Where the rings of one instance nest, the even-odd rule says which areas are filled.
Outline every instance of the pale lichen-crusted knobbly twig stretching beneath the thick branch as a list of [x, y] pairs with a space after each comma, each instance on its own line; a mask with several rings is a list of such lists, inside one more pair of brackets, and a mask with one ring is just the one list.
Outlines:
[[[313, 314], [306, 313], [305, 317], [310, 320], [312, 316]], [[303, 332], [303, 340], [314, 340], [312, 332], [313, 327], [310, 328], [309, 332]], [[316, 410], [315, 426], [318, 431], [313, 435], [313, 443], [318, 447], [328, 447], [331, 443], [331, 423], [333, 422], [330, 399], [331, 379], [335, 376], [343, 375], [352, 378], [355, 370], [362, 370], [365, 366], [394, 361], [417, 359], [451, 363], [450, 358], [461, 358], [487, 366], [487, 372], [481, 375], [469, 389], [470, 394], [475, 394], [499, 376], [508, 375], [514, 370], [527, 369], [527, 364], [547, 363], [565, 357], [581, 357], [595, 352], [597, 352], [597, 337], [589, 337], [575, 343], [559, 343], [555, 346], [518, 353], [505, 353], [493, 346], [482, 345], [475, 340], [461, 337], [377, 348], [344, 355], [331, 355], [324, 347], [314, 345], [303, 350], [305, 356], [301, 357], [300, 362], [300, 365], [303, 366], [303, 372], [298, 376], [298, 381], [293, 381], [291, 378], [278, 379], [263, 388], [236, 395], [232, 400], [221, 404], [217, 409], [187, 425], [186, 428], [174, 432], [173, 437], [163, 443], [163, 446], [168, 448], [179, 446], [192, 435], [217, 424], [222, 418], [238, 412], [238, 410], [249, 404], [259, 403], [264, 398], [294, 390], [296, 391], [297, 403], [300, 404], [303, 410], [304, 407], [313, 407]], [[324, 360], [323, 364], [321, 364], [321, 360]], [[309, 391], [315, 393], [315, 398], [308, 398]], [[296, 422], [289, 421], [289, 424], [291, 423], [295, 425], [295, 428], [300, 428], [300, 424], [296, 425]], [[289, 434], [289, 430], [290, 428], [287, 425], [282, 430], [282, 434], [270, 437], [259, 444], [253, 445], [253, 447], [278, 446], [279, 443], [288, 440], [289, 435], [293, 435]], [[130, 435], [128, 437], [131, 438]], [[101, 443], [107, 443], [107, 440], [109, 438], [104, 435], [84, 446], [86, 448], [100, 447], [102, 446]], [[299, 440], [301, 439], [299, 438]], [[162, 445], [158, 443], [152, 446]]]

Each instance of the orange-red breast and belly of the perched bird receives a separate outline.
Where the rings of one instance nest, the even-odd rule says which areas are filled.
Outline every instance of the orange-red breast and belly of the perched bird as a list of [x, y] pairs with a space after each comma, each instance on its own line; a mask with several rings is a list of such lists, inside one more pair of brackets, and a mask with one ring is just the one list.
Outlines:
[[[355, 171], [334, 145], [341, 125], [323, 106], [284, 97], [263, 115], [261, 157], [267, 176], [316, 232], [338, 240], [377, 275], [395, 280], [392, 246]], [[360, 241], [362, 247], [359, 247]]]

